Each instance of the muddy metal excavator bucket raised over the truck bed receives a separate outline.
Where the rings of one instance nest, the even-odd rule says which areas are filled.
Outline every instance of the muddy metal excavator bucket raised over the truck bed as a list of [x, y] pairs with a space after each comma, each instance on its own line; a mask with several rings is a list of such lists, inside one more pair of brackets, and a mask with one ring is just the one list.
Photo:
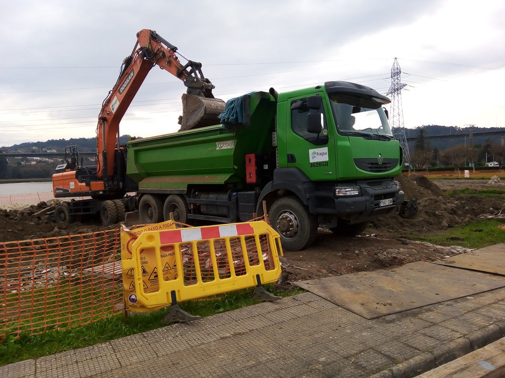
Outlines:
[[179, 131], [203, 128], [221, 123], [218, 115], [225, 109], [226, 103], [219, 98], [199, 97], [184, 93], [182, 95], [182, 117], [179, 119]]

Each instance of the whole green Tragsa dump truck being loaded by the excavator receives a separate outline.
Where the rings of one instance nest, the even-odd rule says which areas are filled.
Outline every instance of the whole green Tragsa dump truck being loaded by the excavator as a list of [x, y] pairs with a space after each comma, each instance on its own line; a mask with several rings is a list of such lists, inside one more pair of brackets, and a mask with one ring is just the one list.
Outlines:
[[266, 209], [286, 250], [309, 246], [318, 227], [360, 233], [403, 202], [389, 102], [348, 82], [270, 89], [228, 101], [221, 124], [129, 141], [140, 220], [230, 223]]

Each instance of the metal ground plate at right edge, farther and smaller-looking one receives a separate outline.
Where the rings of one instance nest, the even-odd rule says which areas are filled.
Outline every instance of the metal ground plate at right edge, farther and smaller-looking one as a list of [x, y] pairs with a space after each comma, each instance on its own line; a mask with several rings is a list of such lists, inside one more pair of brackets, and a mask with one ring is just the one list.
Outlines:
[[434, 263], [505, 276], [505, 244], [489, 245], [463, 255], [435, 261]]

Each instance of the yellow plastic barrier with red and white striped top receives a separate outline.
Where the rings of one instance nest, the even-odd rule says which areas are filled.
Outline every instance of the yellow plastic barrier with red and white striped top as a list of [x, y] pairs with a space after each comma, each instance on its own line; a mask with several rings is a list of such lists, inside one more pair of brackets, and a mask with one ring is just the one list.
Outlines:
[[[261, 287], [262, 283], [277, 281], [281, 274], [280, 236], [264, 221], [142, 230], [129, 247], [132, 259], [122, 260], [123, 270], [133, 273], [135, 299], [151, 309]], [[164, 260], [167, 255], [175, 258], [172, 263]], [[156, 279], [146, 280], [149, 272], [142, 275], [144, 266], [154, 266]], [[158, 276], [168, 270], [171, 276]]]

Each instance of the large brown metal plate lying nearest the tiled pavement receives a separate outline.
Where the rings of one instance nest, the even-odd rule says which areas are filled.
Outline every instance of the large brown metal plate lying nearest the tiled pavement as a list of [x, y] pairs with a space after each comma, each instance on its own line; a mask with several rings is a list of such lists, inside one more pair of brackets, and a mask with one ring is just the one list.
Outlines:
[[505, 277], [417, 262], [296, 285], [366, 319], [375, 319], [504, 287]]

